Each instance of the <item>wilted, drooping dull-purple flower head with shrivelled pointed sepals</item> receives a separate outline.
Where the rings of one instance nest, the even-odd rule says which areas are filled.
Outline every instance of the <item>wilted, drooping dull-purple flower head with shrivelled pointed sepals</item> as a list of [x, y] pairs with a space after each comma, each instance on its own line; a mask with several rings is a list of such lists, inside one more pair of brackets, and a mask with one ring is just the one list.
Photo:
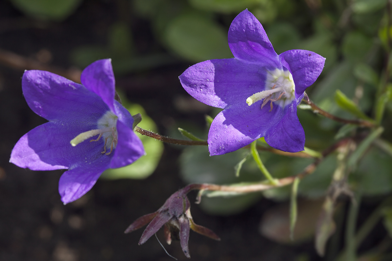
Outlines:
[[140, 229], [149, 223], [139, 241], [139, 245], [142, 245], [164, 225], [167, 244], [170, 245], [172, 239], [180, 240], [182, 251], [188, 258], [191, 258], [188, 247], [190, 229], [203, 236], [220, 240], [210, 229], [194, 223], [191, 216], [191, 203], [186, 196], [189, 192], [189, 187], [187, 186], [172, 194], [157, 211], [135, 220], [124, 233]]

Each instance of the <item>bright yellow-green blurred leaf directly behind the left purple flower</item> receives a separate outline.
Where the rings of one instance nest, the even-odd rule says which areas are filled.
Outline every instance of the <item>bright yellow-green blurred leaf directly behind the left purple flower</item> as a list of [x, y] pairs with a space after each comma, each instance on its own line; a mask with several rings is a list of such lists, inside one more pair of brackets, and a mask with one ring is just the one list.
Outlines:
[[[121, 100], [123, 106], [131, 112], [131, 114], [141, 113], [143, 120], [138, 124], [140, 128], [145, 130], [151, 130], [156, 132], [158, 130], [154, 121], [145, 113], [142, 106], [139, 104], [130, 104], [125, 95], [121, 95]], [[163, 143], [159, 140], [152, 139], [147, 136], [142, 136], [139, 133], [136, 133], [139, 138], [143, 142], [144, 150], [146, 152], [145, 156], [142, 156], [136, 162], [128, 165], [126, 167], [121, 167], [118, 169], [107, 169], [101, 175], [102, 178], [106, 179], [119, 179], [119, 178], [134, 178], [134, 179], [142, 179], [147, 178], [151, 175], [156, 166], [158, 166], [159, 160], [161, 158], [163, 152]]]

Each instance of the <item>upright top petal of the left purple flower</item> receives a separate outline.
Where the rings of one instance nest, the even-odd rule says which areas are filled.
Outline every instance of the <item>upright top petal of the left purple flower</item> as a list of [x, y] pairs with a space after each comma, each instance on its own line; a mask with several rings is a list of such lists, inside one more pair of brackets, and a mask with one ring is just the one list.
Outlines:
[[87, 66], [80, 81], [88, 90], [98, 94], [114, 112], [115, 82], [111, 59], [98, 60]]

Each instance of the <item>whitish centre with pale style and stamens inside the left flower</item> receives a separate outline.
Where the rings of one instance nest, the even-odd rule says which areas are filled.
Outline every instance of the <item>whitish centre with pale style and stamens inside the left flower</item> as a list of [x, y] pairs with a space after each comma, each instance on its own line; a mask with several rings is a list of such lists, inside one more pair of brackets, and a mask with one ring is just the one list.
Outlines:
[[[91, 141], [98, 141], [103, 137], [105, 139], [105, 144], [103, 145], [103, 151], [102, 153], [105, 153], [106, 155], [109, 155], [112, 151], [113, 148], [116, 148], [117, 146], [117, 119], [118, 117], [114, 115], [113, 112], [107, 111], [103, 116], [97, 121], [97, 127], [98, 129], [96, 130], [89, 130], [80, 133], [78, 136], [76, 136], [74, 139], [71, 140], [71, 145], [76, 146], [80, 142], [83, 142], [87, 139], [90, 139], [91, 137], [94, 137], [98, 135], [98, 138], [95, 140], [90, 140]], [[106, 153], [106, 149], [110, 148], [110, 152]]]

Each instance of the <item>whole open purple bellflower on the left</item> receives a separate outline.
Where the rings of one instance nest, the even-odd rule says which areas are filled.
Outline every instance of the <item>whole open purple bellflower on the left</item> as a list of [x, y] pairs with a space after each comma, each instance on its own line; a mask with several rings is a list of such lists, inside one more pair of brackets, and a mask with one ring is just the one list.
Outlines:
[[111, 59], [86, 67], [80, 80], [83, 85], [51, 72], [25, 71], [27, 104], [49, 122], [20, 138], [9, 160], [32, 170], [68, 169], [58, 184], [64, 203], [87, 193], [105, 169], [145, 154], [131, 114], [114, 99]]

